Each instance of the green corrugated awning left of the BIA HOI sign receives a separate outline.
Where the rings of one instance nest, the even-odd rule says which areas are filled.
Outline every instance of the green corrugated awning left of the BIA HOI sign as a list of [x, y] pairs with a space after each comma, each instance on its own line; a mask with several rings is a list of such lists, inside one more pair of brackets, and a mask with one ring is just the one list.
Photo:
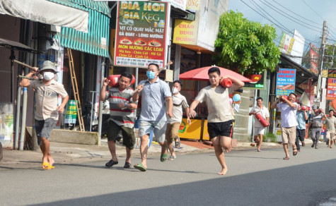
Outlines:
[[[59, 2], [60, 0], [50, 0]], [[106, 2], [71, 0], [72, 3], [88, 9], [88, 32], [79, 32], [62, 27], [59, 42], [62, 47], [75, 49], [88, 54], [108, 57], [110, 30], [110, 8]]]

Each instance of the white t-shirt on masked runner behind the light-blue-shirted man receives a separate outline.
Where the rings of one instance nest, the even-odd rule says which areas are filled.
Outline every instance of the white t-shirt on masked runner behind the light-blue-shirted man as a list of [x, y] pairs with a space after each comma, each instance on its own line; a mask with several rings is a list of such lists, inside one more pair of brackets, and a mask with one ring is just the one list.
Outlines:
[[[182, 107], [185, 109], [189, 107], [187, 103], [187, 99], [185, 99], [185, 96], [178, 93], [178, 95], [174, 96], [172, 95], [173, 99], [173, 117], [170, 118], [170, 116], [167, 115], [168, 123], [173, 122], [179, 122], [181, 123], [182, 117], [183, 117], [183, 111]], [[168, 107], [166, 107], [168, 109]]]

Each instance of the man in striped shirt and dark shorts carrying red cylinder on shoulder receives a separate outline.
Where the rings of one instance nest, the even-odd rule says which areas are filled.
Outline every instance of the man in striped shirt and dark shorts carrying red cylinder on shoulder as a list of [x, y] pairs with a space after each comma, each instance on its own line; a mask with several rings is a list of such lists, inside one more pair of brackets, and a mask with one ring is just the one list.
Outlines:
[[134, 109], [137, 109], [137, 102], [132, 101], [134, 90], [129, 87], [132, 82], [132, 75], [124, 72], [119, 78], [119, 87], [110, 87], [108, 91], [108, 79], [104, 78], [103, 87], [100, 90], [100, 100], [109, 99], [110, 119], [108, 122], [108, 148], [112, 159], [105, 166], [118, 164], [117, 154], [115, 153], [115, 141], [117, 135], [122, 131], [122, 144], [126, 146], [126, 159], [124, 168], [131, 166], [131, 154], [134, 148]]

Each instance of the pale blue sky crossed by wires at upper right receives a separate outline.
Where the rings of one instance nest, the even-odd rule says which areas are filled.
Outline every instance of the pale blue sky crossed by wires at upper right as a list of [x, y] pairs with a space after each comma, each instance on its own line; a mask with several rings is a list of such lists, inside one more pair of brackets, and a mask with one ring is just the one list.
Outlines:
[[[245, 4], [243, 2], [245, 2]], [[255, 9], [255, 11], [253, 11], [252, 8]], [[323, 20], [326, 20], [330, 33], [330, 35], [328, 35], [328, 42], [331, 44], [336, 43], [335, 0], [229, 0], [228, 9], [243, 13], [244, 17], [248, 20], [262, 24], [274, 25], [275, 23], [279, 25], [279, 27], [282, 28], [274, 25], [274, 28], [277, 29], [277, 41], [279, 41], [282, 31], [292, 37], [293, 34], [290, 32], [294, 32], [294, 29], [296, 29], [306, 38], [306, 46], [310, 42], [313, 42], [316, 47], [320, 47]], [[262, 14], [262, 16], [259, 13]], [[272, 20], [273, 23], [264, 16]]]

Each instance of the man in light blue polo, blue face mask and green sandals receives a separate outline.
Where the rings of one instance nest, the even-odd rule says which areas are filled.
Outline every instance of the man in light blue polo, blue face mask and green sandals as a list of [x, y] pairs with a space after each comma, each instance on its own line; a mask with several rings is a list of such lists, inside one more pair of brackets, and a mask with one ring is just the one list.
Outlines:
[[[134, 168], [140, 171], [147, 170], [148, 140], [151, 131], [159, 145], [161, 145], [161, 162], [168, 159], [166, 150], [166, 114], [173, 117], [173, 100], [169, 85], [158, 78], [158, 65], [150, 63], [146, 72], [147, 80], [142, 80], [134, 92], [133, 101], [139, 99], [141, 95], [141, 116], [139, 126], [139, 136], [141, 137], [140, 153], [141, 163], [135, 164]], [[167, 101], [168, 111], [166, 112], [165, 101]]]

